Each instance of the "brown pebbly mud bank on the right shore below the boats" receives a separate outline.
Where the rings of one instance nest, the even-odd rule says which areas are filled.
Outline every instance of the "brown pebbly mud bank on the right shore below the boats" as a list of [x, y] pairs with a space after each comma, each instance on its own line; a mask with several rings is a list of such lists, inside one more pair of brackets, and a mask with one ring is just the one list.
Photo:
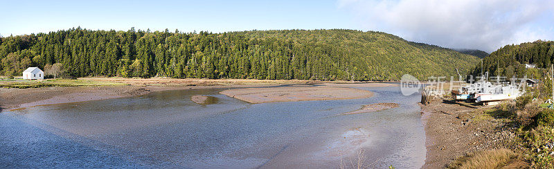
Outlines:
[[427, 137], [427, 158], [422, 168], [445, 168], [468, 152], [512, 146], [507, 140], [515, 136], [517, 127], [483, 113], [488, 108], [470, 108], [440, 99], [421, 107]]

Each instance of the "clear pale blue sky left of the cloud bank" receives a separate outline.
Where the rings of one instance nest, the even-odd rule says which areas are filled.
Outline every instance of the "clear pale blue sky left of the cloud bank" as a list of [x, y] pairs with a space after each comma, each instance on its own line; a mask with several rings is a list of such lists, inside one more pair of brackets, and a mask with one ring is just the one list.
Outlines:
[[3, 36], [81, 26], [88, 29], [214, 33], [235, 30], [356, 28], [336, 1], [12, 1], [0, 16]]

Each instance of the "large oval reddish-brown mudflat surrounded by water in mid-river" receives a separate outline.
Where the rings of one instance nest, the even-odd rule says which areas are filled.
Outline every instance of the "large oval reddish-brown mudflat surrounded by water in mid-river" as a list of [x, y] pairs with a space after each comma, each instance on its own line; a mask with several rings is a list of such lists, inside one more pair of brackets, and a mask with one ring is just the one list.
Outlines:
[[346, 87], [307, 87], [287, 86], [268, 88], [229, 89], [220, 92], [231, 98], [237, 98], [249, 103], [294, 102], [307, 100], [341, 100], [368, 98], [371, 91]]

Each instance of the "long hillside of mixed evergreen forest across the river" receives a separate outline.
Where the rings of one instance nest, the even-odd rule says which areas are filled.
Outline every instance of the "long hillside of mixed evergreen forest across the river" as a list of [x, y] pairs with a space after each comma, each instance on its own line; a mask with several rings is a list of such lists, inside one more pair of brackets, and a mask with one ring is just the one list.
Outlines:
[[420, 79], [468, 71], [479, 59], [357, 30], [181, 33], [73, 28], [0, 38], [0, 73], [52, 64], [72, 76], [312, 80]]

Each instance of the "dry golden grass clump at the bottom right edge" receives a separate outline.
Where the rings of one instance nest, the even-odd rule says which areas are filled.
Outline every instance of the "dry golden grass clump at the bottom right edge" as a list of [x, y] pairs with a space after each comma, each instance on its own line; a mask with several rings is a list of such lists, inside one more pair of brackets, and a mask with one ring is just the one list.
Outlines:
[[448, 168], [501, 168], [516, 158], [517, 154], [512, 150], [487, 150], [460, 157], [450, 163]]

